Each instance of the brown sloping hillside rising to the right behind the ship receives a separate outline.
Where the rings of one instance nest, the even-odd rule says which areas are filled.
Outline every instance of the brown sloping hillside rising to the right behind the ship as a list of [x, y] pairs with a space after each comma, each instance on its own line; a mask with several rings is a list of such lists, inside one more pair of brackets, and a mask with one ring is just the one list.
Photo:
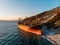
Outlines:
[[[58, 23], [59, 20], [59, 23]], [[31, 27], [42, 27], [47, 26], [60, 26], [60, 6], [52, 10], [42, 12], [35, 16], [24, 19], [26, 24], [29, 24]], [[59, 24], [59, 25], [58, 25]]]

